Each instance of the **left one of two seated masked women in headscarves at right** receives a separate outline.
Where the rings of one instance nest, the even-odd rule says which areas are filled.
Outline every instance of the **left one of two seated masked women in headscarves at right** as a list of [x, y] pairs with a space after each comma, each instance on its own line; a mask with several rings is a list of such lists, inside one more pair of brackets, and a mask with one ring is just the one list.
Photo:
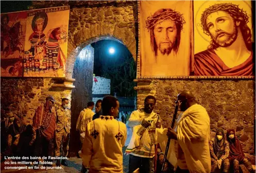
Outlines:
[[210, 141], [211, 172], [223, 168], [223, 172], [229, 170], [229, 144], [225, 140], [224, 130], [217, 129], [215, 137]]

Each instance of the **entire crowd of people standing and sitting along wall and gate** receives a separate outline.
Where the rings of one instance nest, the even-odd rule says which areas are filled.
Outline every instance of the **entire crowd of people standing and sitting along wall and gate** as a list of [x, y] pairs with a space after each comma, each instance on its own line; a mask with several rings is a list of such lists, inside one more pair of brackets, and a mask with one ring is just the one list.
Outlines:
[[[19, 118], [11, 125], [9, 121], [2, 122], [1, 128], [5, 127], [7, 134], [4, 154], [48, 156], [50, 141], [55, 138], [55, 156], [59, 157], [56, 165], [66, 166], [71, 111], [67, 107], [69, 99], [61, 101], [55, 110], [56, 100], [48, 96], [45, 104], [38, 107], [32, 125], [25, 126]], [[210, 117], [194, 95], [183, 91], [176, 104], [181, 113], [174, 128], [163, 128], [161, 117], [154, 112], [156, 98], [152, 95], [146, 96], [143, 108], [127, 114], [118, 111], [120, 103], [116, 97], [98, 100], [95, 112], [94, 102], [89, 101], [76, 124], [82, 143], [81, 172], [123, 172], [124, 146], [129, 155], [129, 173], [162, 172], [162, 164], [164, 172], [239, 172], [240, 164], [254, 172], [234, 129], [227, 130], [226, 135], [223, 129], [217, 129], [210, 139]], [[167, 161], [163, 163], [168, 138], [171, 140]]]

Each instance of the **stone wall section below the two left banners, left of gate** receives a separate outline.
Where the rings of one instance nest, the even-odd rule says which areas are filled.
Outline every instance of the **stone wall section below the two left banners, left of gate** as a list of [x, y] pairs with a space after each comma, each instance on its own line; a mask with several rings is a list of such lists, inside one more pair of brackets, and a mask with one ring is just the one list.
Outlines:
[[32, 124], [37, 107], [48, 95], [54, 96], [58, 108], [61, 98], [71, 98], [70, 89], [55, 86], [59, 82], [62, 79], [1, 78], [1, 118], [20, 117], [24, 124]]

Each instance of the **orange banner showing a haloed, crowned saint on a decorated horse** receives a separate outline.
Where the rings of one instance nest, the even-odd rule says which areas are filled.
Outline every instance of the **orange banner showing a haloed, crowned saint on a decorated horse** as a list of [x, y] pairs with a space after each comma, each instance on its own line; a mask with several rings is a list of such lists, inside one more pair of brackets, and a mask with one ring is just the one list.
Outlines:
[[64, 77], [70, 7], [28, 11], [24, 77]]

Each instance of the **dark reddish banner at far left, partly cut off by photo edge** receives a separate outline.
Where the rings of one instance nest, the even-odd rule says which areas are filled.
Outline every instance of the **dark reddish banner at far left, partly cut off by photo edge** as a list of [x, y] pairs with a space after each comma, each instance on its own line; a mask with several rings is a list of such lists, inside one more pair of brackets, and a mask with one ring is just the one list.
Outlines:
[[1, 14], [1, 77], [22, 77], [27, 12]]

